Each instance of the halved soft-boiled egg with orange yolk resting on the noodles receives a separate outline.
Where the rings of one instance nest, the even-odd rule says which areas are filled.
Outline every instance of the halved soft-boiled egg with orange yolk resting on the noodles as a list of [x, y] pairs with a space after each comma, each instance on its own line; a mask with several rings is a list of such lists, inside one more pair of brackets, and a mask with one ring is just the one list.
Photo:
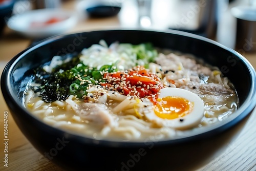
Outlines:
[[184, 89], [161, 89], [154, 104], [148, 99], [144, 99], [143, 103], [151, 107], [144, 111], [148, 121], [175, 129], [196, 126], [204, 116], [203, 100], [197, 94]]

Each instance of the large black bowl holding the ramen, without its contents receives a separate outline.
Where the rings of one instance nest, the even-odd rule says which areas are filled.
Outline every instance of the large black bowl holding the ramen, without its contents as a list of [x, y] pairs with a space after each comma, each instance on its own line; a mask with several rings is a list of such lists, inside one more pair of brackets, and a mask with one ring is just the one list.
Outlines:
[[[33, 68], [50, 61], [54, 55], [80, 52], [83, 48], [98, 44], [101, 39], [108, 44], [117, 40], [131, 44], [152, 42], [155, 47], [190, 53], [204, 59], [219, 67], [233, 82], [240, 100], [238, 111], [218, 124], [177, 139], [114, 142], [56, 129], [25, 109], [23, 94], [31, 80]], [[242, 55], [207, 38], [179, 31], [108, 30], [56, 36], [29, 47], [7, 64], [2, 74], [1, 88], [19, 129], [42, 155], [54, 163], [70, 170], [129, 170], [135, 164], [136, 168], [148, 170], [159, 168], [160, 165], [161, 168], [168, 168], [169, 161], [163, 158], [168, 159], [172, 155], [170, 150], [179, 148], [181, 143], [205, 141], [241, 121], [255, 106], [255, 82], [255, 71]]]

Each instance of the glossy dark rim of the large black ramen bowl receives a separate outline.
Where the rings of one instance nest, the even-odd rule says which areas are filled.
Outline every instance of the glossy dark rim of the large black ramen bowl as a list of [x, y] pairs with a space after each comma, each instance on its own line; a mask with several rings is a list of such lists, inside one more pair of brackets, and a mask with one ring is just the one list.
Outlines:
[[[49, 44], [55, 40], [58, 39], [65, 39], [65, 37], [68, 36], [73, 36], [75, 34], [81, 34], [81, 33], [90, 33], [90, 32], [114, 32], [114, 31], [142, 31], [142, 32], [159, 32], [159, 33], [167, 33], [167, 34], [174, 34], [174, 35], [180, 35], [180, 36], [185, 36], [185, 37], [190, 37], [193, 39], [197, 39], [200, 41], [205, 41], [209, 44], [213, 44], [214, 46], [220, 47], [226, 51], [229, 51], [230, 53], [236, 55], [237, 57], [239, 57], [240, 59], [242, 59], [241, 61], [244, 62], [244, 65], [247, 67], [247, 69], [250, 72], [250, 78], [251, 78], [251, 90], [249, 91], [248, 97], [245, 100], [245, 102], [243, 103], [242, 106], [240, 106], [240, 108], [233, 113], [232, 115], [229, 116], [228, 119], [219, 122], [218, 124], [214, 124], [214, 125], [210, 125], [209, 127], [204, 127], [204, 129], [202, 130], [197, 130], [195, 133], [189, 133], [189, 136], [184, 135], [184, 136], [179, 136], [176, 137], [176, 139], [166, 139], [166, 140], [160, 140], [160, 141], [118, 141], [118, 140], [95, 140], [91, 137], [87, 137], [87, 136], [82, 136], [79, 134], [76, 134], [74, 132], [71, 131], [65, 131], [62, 129], [58, 129], [56, 127], [53, 127], [51, 125], [48, 125], [47, 123], [42, 122], [39, 118], [37, 118], [36, 116], [32, 115], [26, 108], [25, 106], [23, 106], [17, 99], [13, 98], [11, 91], [9, 90], [9, 88], [11, 88], [10, 85], [10, 74], [11, 71], [13, 70], [13, 68], [17, 65], [17, 63], [19, 62], [19, 60], [25, 56], [27, 53], [37, 49], [40, 46], [44, 46], [46, 44]], [[57, 35], [57, 36], [53, 36], [44, 40], [39, 41], [38, 43], [34, 44], [33, 46], [28, 47], [27, 49], [25, 49], [24, 51], [18, 53], [17, 55], [15, 55], [5, 66], [3, 73], [2, 73], [2, 77], [1, 77], [1, 89], [2, 89], [2, 93], [4, 95], [5, 100], [9, 100], [11, 103], [15, 104], [18, 108], [18, 110], [23, 111], [24, 115], [28, 115], [29, 117], [32, 117], [33, 119], [39, 121], [41, 124], [43, 124], [44, 126], [49, 127], [50, 129], [54, 129], [55, 131], [58, 131], [59, 133], [62, 133], [62, 135], [65, 134], [69, 134], [70, 138], [75, 138], [77, 140], [79, 140], [80, 142], [84, 142], [84, 143], [91, 143], [94, 145], [102, 145], [102, 146], [114, 146], [114, 147], [143, 147], [146, 146], [146, 142], [157, 142], [156, 145], [167, 145], [167, 144], [177, 144], [177, 143], [183, 143], [183, 142], [187, 142], [187, 141], [193, 141], [196, 140], [198, 138], [208, 138], [208, 137], [212, 137], [218, 133], [221, 133], [227, 129], [229, 129], [231, 126], [237, 124], [238, 122], [240, 122], [243, 118], [245, 118], [248, 114], [250, 114], [250, 112], [254, 109], [254, 106], [256, 105], [256, 73], [254, 68], [252, 67], [252, 65], [249, 63], [249, 61], [242, 56], [241, 54], [239, 54], [238, 52], [234, 51], [231, 48], [225, 47], [224, 45], [219, 44], [219, 42], [216, 42], [214, 40], [199, 36], [199, 35], [195, 35], [195, 34], [191, 34], [191, 33], [186, 33], [186, 32], [182, 32], [182, 31], [177, 31], [177, 30], [168, 30], [168, 31], [158, 31], [158, 30], [144, 30], [144, 29], [114, 29], [114, 30], [97, 30], [97, 31], [86, 31], [86, 32], [77, 32], [77, 33], [72, 33], [72, 34], [63, 34], [63, 35]], [[3, 91], [5, 90], [5, 92]]]

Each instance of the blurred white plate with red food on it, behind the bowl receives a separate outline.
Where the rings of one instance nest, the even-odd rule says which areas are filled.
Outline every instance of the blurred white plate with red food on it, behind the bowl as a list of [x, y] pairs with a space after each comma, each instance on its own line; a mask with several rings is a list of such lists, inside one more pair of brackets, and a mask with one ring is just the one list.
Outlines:
[[[52, 24], [43, 24], [52, 18], [60, 18], [61, 20]], [[32, 26], [32, 23], [37, 23], [37, 26]], [[38, 26], [39, 23], [42, 25]], [[64, 33], [73, 28], [76, 23], [77, 17], [71, 11], [40, 9], [13, 15], [8, 20], [7, 26], [27, 37], [44, 38]]]

